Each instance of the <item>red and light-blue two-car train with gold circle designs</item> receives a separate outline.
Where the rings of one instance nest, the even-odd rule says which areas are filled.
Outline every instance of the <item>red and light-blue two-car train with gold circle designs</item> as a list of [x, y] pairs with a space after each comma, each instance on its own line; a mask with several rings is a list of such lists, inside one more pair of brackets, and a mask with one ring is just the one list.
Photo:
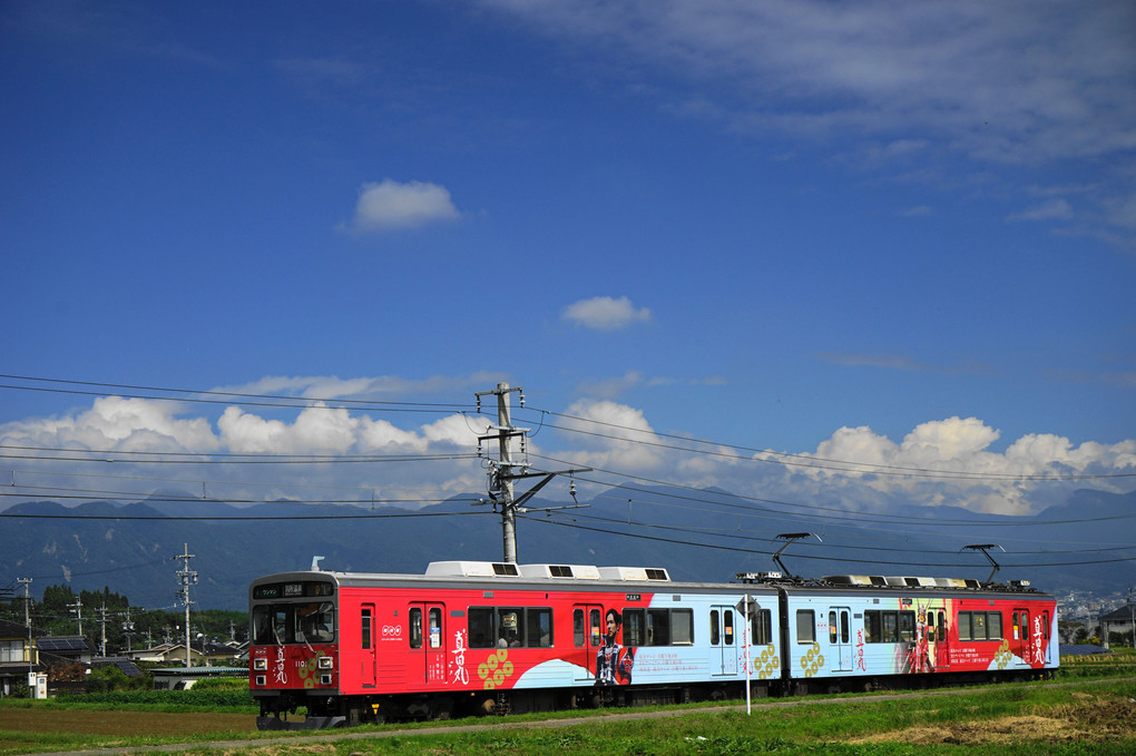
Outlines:
[[[1026, 581], [432, 562], [249, 588], [261, 730], [1050, 678], [1056, 602]], [[299, 711], [303, 709], [303, 716]]]

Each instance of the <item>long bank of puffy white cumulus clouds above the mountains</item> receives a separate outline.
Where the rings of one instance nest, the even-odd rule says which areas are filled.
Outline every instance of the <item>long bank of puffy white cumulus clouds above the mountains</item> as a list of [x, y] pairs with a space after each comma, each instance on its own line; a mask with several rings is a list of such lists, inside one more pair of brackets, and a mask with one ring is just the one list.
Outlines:
[[[624, 381], [651, 381], [630, 372]], [[293, 390], [307, 384], [327, 385], [319, 378], [289, 379]], [[353, 380], [340, 381], [346, 386]], [[359, 383], [365, 390], [369, 380]], [[229, 453], [287, 455], [431, 455], [428, 462], [390, 464], [331, 464], [318, 459], [303, 464], [202, 465], [191, 468], [184, 457], [114, 459], [115, 488], [134, 486], [136, 496], [157, 490], [201, 492], [208, 480], [215, 497], [321, 498], [315, 489], [344, 488], [337, 498], [369, 501], [384, 489], [478, 493], [484, 488], [481, 464], [469, 459], [477, 437], [487, 432], [485, 415], [444, 413], [415, 422], [399, 413], [391, 419], [374, 412], [319, 402], [298, 410], [231, 405], [210, 420], [197, 417], [201, 405], [158, 400], [100, 397], [91, 408], [64, 417], [27, 419], [0, 425], [0, 444], [45, 450], [103, 452]], [[527, 425], [515, 418], [519, 425]], [[527, 450], [563, 463], [593, 468], [610, 485], [626, 476], [691, 487], [717, 487], [767, 501], [824, 503], [853, 511], [911, 510], [959, 506], [1000, 514], [1036, 512], [1058, 503], [1061, 495], [1086, 485], [1078, 476], [1096, 477], [1091, 485], [1124, 490], [1128, 479], [1109, 478], [1136, 471], [1136, 440], [1117, 444], [1074, 444], [1053, 434], [1030, 434], [1003, 439], [978, 418], [952, 417], [919, 423], [901, 439], [868, 426], [836, 429], [813, 451], [743, 452], [691, 440], [675, 434], [660, 436], [643, 410], [610, 397], [579, 398], [557, 418], [554, 432], [538, 435]], [[537, 447], [535, 442], [540, 442]], [[1003, 448], [1000, 451], [999, 446]], [[692, 451], [694, 450], [694, 451]], [[703, 453], [709, 452], [709, 453]], [[98, 455], [95, 455], [97, 459]], [[174, 463], [176, 460], [177, 463]], [[315, 462], [315, 464], [312, 464]], [[107, 488], [106, 480], [84, 476], [92, 463], [70, 461], [14, 461], [15, 486], [30, 488], [30, 498], [45, 498], [59, 485], [50, 476], [67, 476], [68, 489]], [[105, 472], [105, 471], [100, 471]], [[612, 474], [617, 473], [617, 474]], [[98, 474], [98, 473], [97, 473]], [[1118, 482], [1119, 481], [1119, 482]], [[290, 488], [292, 487], [292, 488]], [[124, 493], [124, 498], [130, 496]], [[396, 496], [406, 501], [408, 495]], [[9, 501], [15, 501], [9, 497]]]

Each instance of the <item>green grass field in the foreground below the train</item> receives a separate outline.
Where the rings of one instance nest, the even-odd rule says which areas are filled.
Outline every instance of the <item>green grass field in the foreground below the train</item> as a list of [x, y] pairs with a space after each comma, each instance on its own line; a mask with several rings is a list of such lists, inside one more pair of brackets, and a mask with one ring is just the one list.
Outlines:
[[[98, 711], [5, 702], [0, 756], [195, 744], [191, 754], [1128, 754], [1136, 753], [1136, 681], [1072, 679], [907, 696], [767, 699], [673, 707], [256, 732], [247, 713]], [[208, 745], [217, 741], [223, 746]]]

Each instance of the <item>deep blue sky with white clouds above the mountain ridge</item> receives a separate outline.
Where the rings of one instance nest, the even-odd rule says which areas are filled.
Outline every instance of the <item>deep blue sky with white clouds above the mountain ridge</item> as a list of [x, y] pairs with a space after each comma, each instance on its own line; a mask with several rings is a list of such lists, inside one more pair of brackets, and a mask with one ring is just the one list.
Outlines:
[[484, 490], [499, 383], [591, 490], [1131, 492], [1134, 87], [1125, 2], [8, 0], [0, 506]]

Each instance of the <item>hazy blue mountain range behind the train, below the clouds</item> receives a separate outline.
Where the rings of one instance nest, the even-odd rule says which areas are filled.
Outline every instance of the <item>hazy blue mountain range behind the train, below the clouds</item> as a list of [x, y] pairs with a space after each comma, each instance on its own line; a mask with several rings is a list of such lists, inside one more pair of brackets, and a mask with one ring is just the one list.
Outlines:
[[[33, 593], [40, 594], [64, 582], [76, 590], [109, 587], [139, 606], [173, 606], [181, 563], [172, 557], [187, 544], [195, 555], [191, 568], [200, 576], [192, 594], [198, 607], [243, 608], [254, 577], [307, 569], [315, 555], [325, 557], [324, 569], [368, 572], [423, 572], [435, 560], [500, 561], [500, 518], [488, 507], [470, 506], [476, 498], [419, 511], [286, 502], [234, 507], [173, 496], [127, 505], [22, 503], [6, 514], [24, 516], [6, 516], [0, 526], [0, 582], [33, 577]], [[755, 509], [760, 520], [738, 516]], [[933, 515], [934, 524], [927, 521]], [[192, 519], [201, 516], [210, 519]], [[1002, 565], [999, 580], [1029, 579], [1047, 590], [1136, 585], [1136, 493], [1078, 490], [1064, 504], [1028, 518], [918, 507], [904, 520], [910, 535], [902, 547], [894, 546], [895, 524], [887, 526], [892, 551], [878, 546], [875, 522], [855, 512], [754, 504], [720, 490], [636, 487], [611, 489], [587, 509], [521, 515], [517, 540], [521, 562], [665, 566], [676, 580], [712, 581], [772, 569], [770, 553], [783, 541], [771, 539], [784, 532], [816, 532], [824, 539], [799, 540], [784, 555], [792, 572], [809, 577], [852, 572], [985, 580], [992, 569], [986, 557], [960, 549], [986, 543], [1014, 553], [991, 552]], [[638, 537], [623, 535], [628, 531]], [[1129, 548], [1101, 551], [1116, 545]], [[1101, 563], [1112, 557], [1127, 561]]]

